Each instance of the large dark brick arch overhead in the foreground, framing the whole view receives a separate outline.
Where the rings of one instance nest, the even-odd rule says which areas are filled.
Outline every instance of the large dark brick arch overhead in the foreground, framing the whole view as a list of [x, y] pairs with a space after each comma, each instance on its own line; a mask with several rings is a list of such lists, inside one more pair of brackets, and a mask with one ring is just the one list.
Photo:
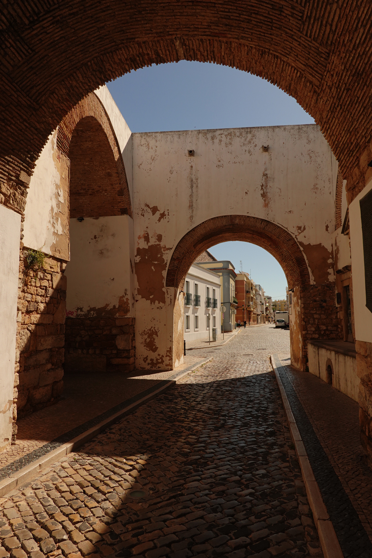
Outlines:
[[105, 81], [150, 64], [213, 61], [267, 79], [312, 114], [350, 200], [372, 158], [371, 15], [370, 0], [5, 3], [1, 174], [22, 196], [19, 181], [51, 131]]

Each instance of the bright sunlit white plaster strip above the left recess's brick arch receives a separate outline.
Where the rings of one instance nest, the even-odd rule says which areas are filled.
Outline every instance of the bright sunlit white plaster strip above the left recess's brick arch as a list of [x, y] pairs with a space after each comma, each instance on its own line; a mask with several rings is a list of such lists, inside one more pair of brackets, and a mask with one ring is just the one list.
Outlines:
[[133, 169], [132, 169], [132, 132], [127, 122], [117, 107], [107, 85], [99, 87], [94, 92], [103, 104], [112, 127], [117, 137], [120, 150], [122, 152], [125, 174], [127, 175], [129, 194], [131, 195], [131, 204], [133, 208]]

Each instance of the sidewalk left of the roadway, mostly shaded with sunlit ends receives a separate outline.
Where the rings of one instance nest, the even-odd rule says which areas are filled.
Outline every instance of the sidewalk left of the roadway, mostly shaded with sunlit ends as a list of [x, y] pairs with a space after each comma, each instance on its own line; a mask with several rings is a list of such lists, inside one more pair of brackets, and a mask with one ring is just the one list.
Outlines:
[[0, 481], [205, 361], [187, 355], [169, 372], [65, 374], [59, 402], [17, 421], [16, 444], [0, 453]]

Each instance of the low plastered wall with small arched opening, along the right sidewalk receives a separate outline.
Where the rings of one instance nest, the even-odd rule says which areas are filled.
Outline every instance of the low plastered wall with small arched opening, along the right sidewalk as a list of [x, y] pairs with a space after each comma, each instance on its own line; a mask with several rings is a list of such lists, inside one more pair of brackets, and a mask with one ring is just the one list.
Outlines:
[[330, 359], [334, 370], [334, 388], [354, 401], [358, 401], [360, 379], [356, 373], [356, 358], [349, 355], [336, 353], [330, 349], [307, 345], [309, 372], [327, 381], [327, 360]]

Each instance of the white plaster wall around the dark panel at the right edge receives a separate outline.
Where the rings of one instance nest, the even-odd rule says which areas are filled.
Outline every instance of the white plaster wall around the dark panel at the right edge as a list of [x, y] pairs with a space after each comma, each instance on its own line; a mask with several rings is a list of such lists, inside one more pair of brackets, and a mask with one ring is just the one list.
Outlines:
[[352, 268], [352, 296], [354, 301], [355, 338], [372, 341], [372, 312], [365, 305], [365, 278], [363, 234], [361, 230], [359, 201], [372, 189], [372, 181], [352, 200], [349, 205], [350, 246]]

